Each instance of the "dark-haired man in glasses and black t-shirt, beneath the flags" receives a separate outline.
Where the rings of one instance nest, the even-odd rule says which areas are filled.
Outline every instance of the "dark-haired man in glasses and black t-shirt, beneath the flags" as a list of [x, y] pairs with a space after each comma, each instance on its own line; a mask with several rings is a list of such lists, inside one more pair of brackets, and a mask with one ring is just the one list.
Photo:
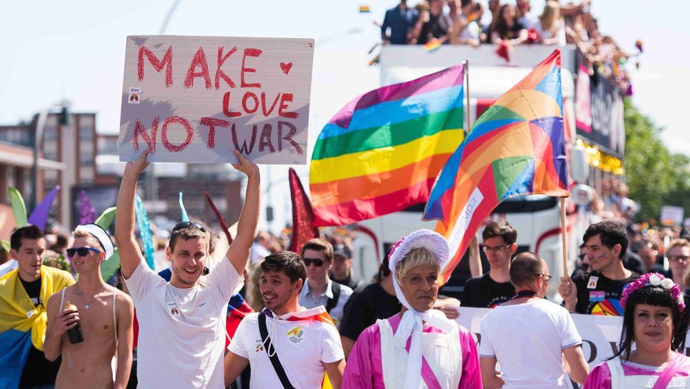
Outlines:
[[511, 284], [511, 257], [517, 250], [517, 231], [505, 220], [490, 223], [481, 233], [489, 271], [465, 283], [461, 307], [494, 308], [515, 294]]

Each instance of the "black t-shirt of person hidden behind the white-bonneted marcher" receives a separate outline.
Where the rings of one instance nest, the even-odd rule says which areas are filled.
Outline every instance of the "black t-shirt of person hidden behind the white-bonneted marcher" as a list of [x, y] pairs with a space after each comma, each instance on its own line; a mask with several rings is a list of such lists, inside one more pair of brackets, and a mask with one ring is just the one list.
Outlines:
[[348, 298], [343, 320], [340, 321], [340, 334], [353, 341], [376, 319], [389, 318], [403, 309], [396, 296], [391, 296], [379, 282], [362, 285]]

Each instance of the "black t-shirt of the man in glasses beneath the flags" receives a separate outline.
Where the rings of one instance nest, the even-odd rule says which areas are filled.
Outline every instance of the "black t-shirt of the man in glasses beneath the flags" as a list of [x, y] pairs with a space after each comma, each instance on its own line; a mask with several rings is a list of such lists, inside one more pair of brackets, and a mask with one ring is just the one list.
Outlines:
[[511, 282], [495, 282], [488, 271], [470, 278], [465, 283], [460, 300], [461, 307], [494, 308], [515, 296]]

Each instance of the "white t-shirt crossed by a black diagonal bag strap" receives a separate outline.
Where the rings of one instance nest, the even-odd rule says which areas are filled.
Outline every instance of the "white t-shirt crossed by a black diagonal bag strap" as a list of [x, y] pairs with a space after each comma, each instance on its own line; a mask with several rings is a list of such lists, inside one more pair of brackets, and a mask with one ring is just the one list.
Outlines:
[[[281, 380], [262, 345], [258, 329], [258, 313], [242, 319], [228, 350], [249, 359], [251, 388], [282, 388]], [[288, 321], [266, 318], [271, 343], [276, 347], [285, 373], [297, 389], [321, 387], [324, 379], [324, 363], [345, 358], [340, 335], [333, 325], [317, 320]]]

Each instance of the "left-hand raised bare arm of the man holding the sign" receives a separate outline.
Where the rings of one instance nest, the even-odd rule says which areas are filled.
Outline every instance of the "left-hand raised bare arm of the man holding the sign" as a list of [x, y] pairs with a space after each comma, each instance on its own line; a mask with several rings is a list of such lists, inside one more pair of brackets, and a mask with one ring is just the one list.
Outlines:
[[144, 260], [134, 237], [134, 195], [136, 194], [136, 179], [149, 165], [146, 162], [148, 150], [141, 153], [135, 162], [127, 162], [122, 174], [122, 183], [117, 196], [117, 210], [115, 211], [115, 240], [120, 253], [122, 275], [130, 278], [136, 266]]

